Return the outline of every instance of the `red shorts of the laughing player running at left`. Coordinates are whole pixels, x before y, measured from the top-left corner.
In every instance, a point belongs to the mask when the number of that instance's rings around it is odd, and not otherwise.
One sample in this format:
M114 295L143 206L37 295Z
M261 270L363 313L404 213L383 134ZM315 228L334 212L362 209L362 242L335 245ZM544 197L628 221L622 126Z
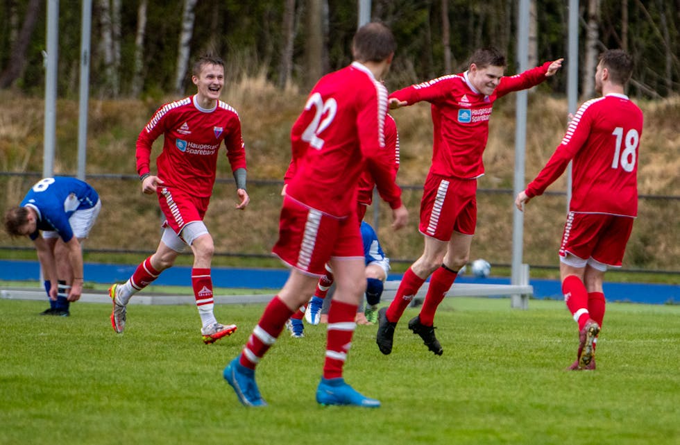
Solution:
M201 198L179 189L158 187L158 203L165 215L163 226L170 226L179 234L192 221L203 221L210 196Z

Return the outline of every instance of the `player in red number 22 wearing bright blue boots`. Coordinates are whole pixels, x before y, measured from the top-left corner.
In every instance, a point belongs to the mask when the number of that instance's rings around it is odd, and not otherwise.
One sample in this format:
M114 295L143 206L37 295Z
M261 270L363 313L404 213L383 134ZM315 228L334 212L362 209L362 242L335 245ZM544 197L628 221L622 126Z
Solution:
M255 383L255 367L282 333L286 321L314 292L330 262L337 292L328 314L323 376L316 389L321 405L380 406L343 380L343 365L356 328L364 294L364 257L356 193L359 175L368 168L378 191L393 209L393 227L407 222L401 191L384 151L387 92L380 83L389 71L396 42L386 26L369 23L352 40L354 62L321 78L291 130L297 169L285 190L279 239L273 253L291 274L267 305L248 343L223 371L239 401L266 405Z

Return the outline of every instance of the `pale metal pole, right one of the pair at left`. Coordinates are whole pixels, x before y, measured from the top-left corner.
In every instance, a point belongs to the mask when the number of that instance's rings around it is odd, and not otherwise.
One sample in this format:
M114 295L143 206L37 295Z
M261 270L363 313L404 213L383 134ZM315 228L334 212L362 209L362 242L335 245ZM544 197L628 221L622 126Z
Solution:
M80 25L80 93L78 104L78 179L85 180L87 158L87 102L90 99L90 30L92 0L83 0Z

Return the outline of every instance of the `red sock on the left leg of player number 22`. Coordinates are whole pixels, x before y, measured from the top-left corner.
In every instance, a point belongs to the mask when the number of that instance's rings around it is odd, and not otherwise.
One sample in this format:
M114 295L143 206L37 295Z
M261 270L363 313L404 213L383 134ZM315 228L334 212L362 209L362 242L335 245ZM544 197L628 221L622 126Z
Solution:
M241 353L239 363L244 367L255 369L257 363L264 356L266 351L274 344L287 319L291 317L293 311L275 296L262 313L262 318L253 329L253 333L248 337L248 343Z

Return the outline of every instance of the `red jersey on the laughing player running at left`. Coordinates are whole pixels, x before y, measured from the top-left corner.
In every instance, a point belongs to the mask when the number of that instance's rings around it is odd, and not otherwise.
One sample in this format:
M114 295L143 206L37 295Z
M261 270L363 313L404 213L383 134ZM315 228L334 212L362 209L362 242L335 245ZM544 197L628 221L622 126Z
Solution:
M246 151L236 110L223 101L206 110L195 98L167 103L151 117L137 138L137 173L149 172L151 145L164 135L163 151L156 158L157 176L167 187L206 197L212 194L221 142L232 171L246 168Z

